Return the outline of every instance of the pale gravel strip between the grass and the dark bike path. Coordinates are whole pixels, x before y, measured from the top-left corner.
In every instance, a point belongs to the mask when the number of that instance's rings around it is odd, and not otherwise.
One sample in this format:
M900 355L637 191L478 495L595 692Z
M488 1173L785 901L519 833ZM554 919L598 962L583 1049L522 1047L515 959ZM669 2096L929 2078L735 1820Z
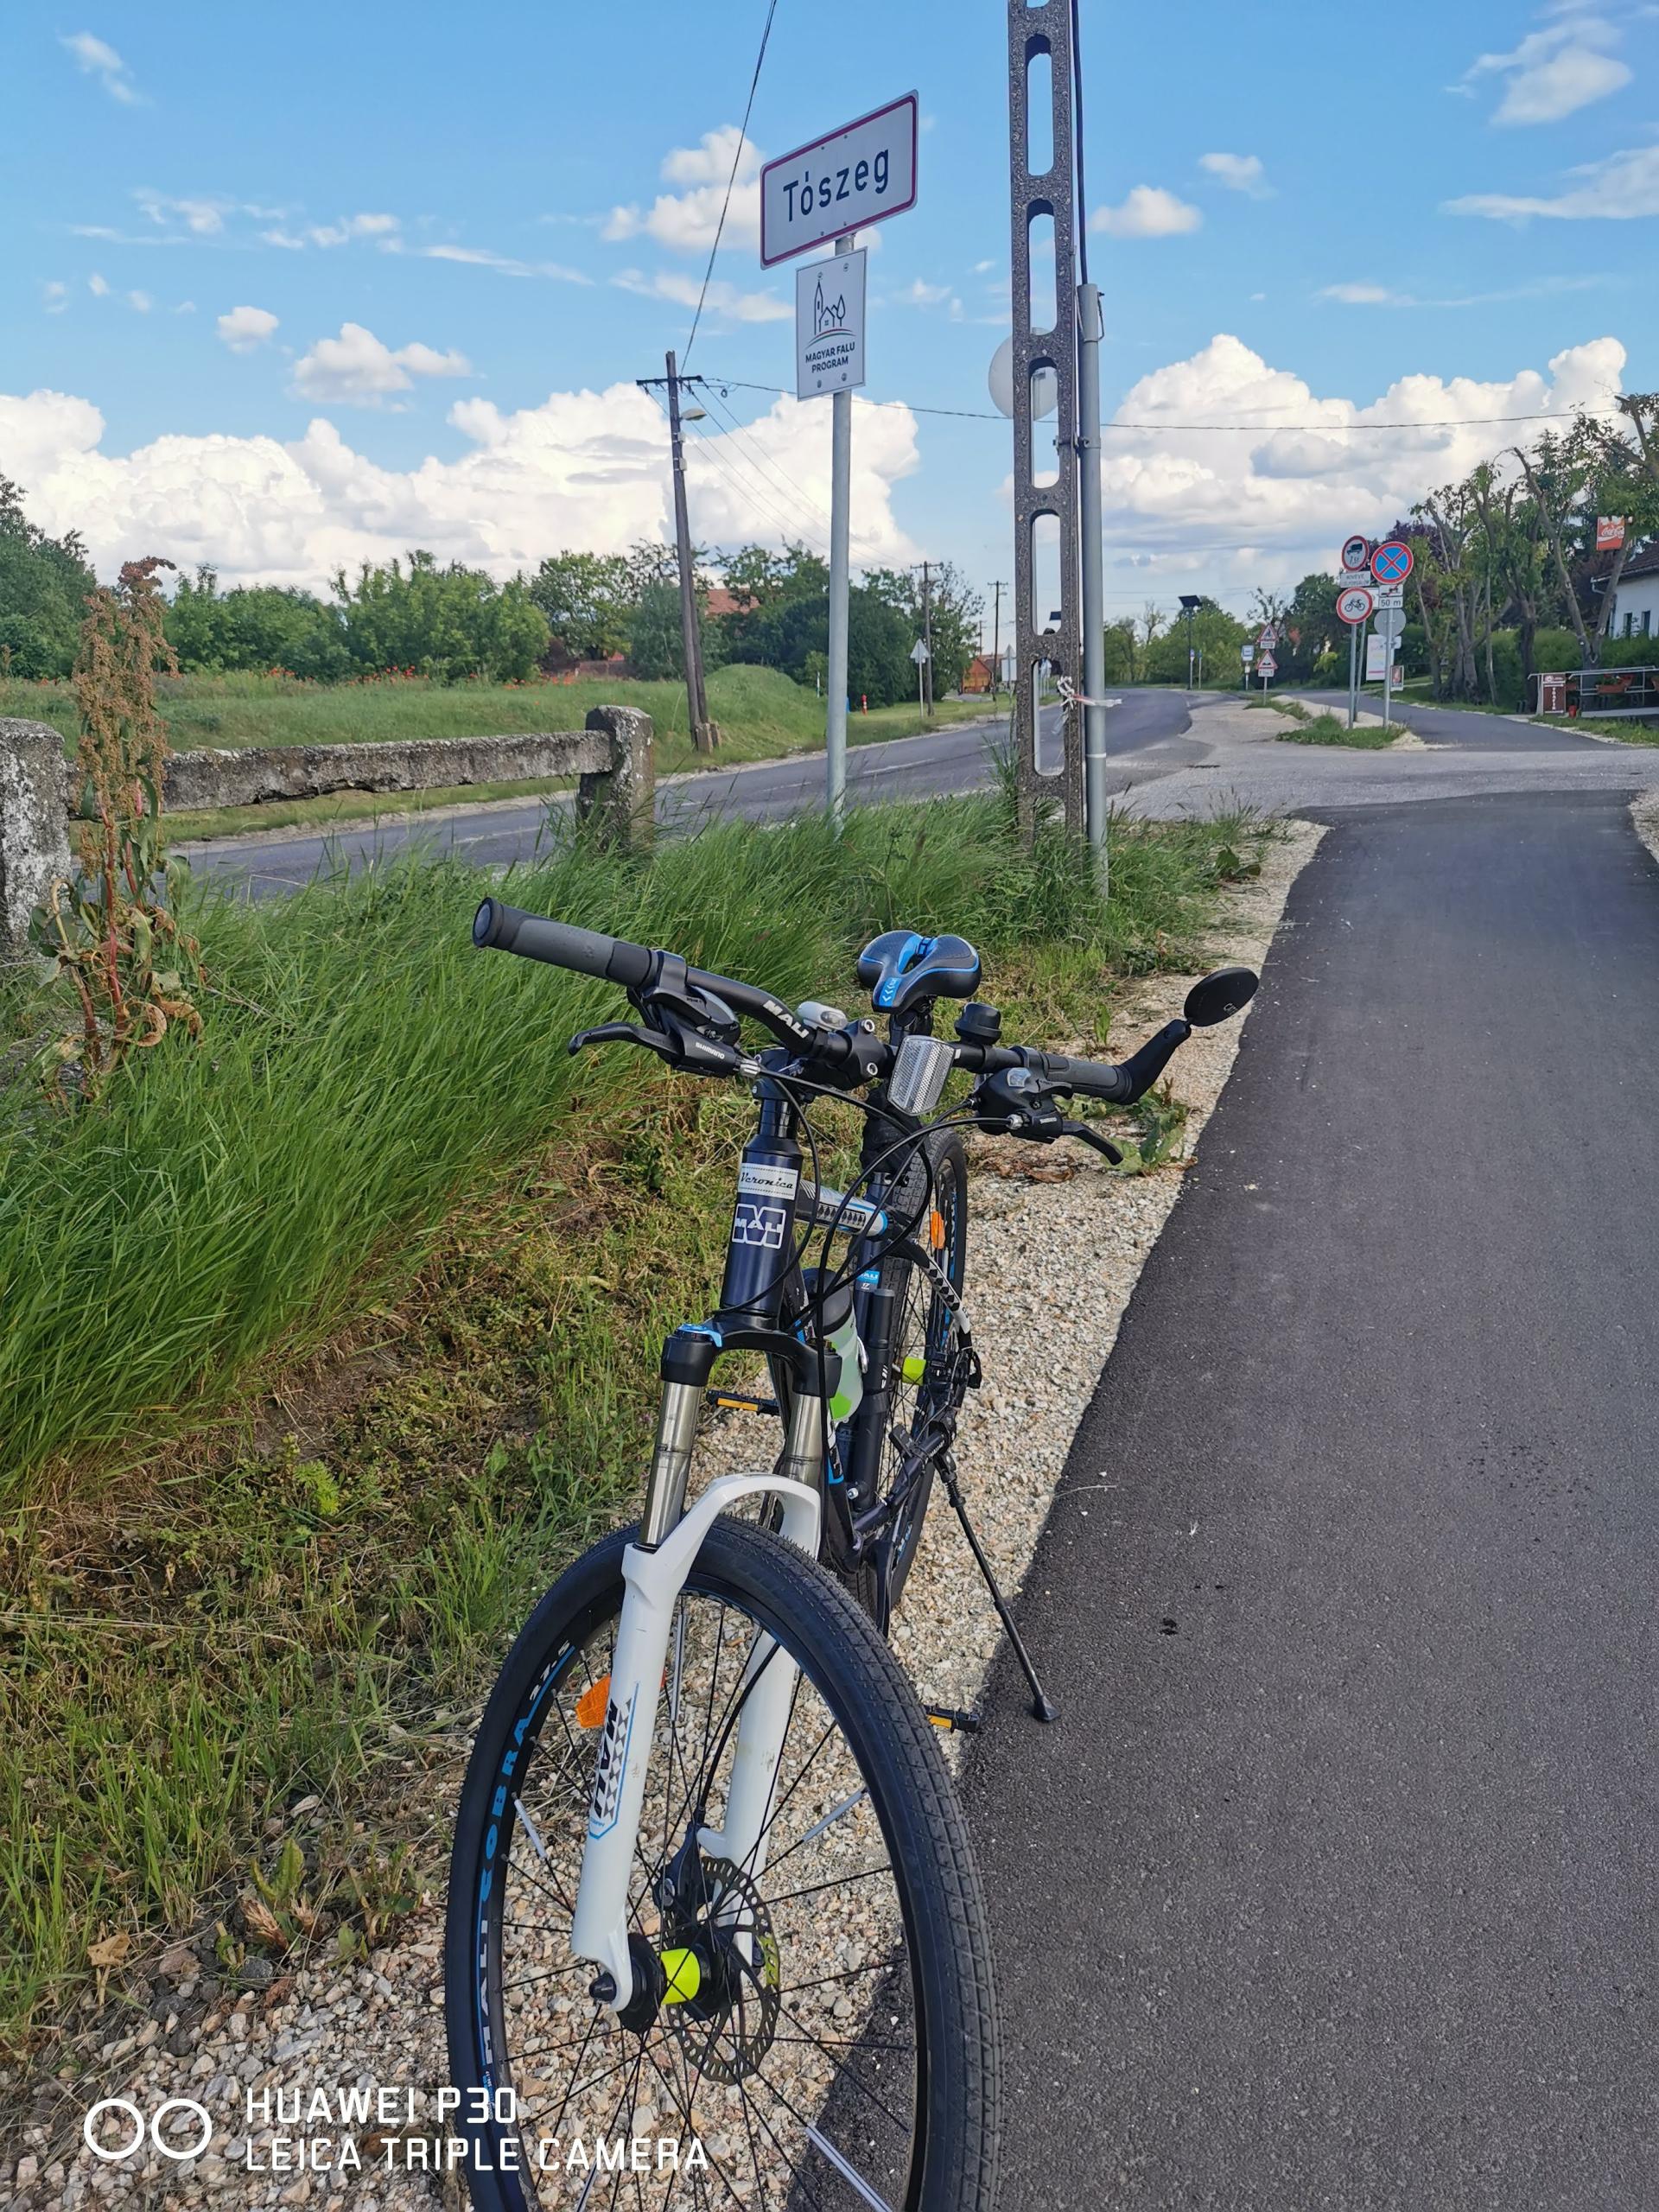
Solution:
M1234 710L1241 712L1241 710ZM1250 734L1261 714L1243 714ZM1296 874L1325 832L1287 823L1263 854L1254 883L1225 894L1212 931L1212 964L1261 967L1281 925ZM1659 807L1652 827L1659 838ZM1124 1011L1115 1042L1139 1040L1179 1013L1192 978L1150 978ZM1248 1020L1248 1015L1245 1015ZM1186 1150L1197 1144L1228 1082L1243 1022L1199 1031L1172 1064L1188 1106ZM1075 1042L1077 1051L1099 1051ZM1073 1157L1075 1155L1075 1157ZM1066 1146L1035 1152L1011 1141L975 1139L969 1217L969 1314L984 1358L984 1389L969 1400L960 1464L980 1537L1009 1593L1031 1566L1048 1502L1077 1422L1117 1340L1124 1310L1164 1223L1181 1194L1179 1166L1115 1177L1093 1152ZM1079 1296L1086 1287L1086 1296ZM732 1422L708 1433L703 1471L752 1458ZM922 1697L975 1705L998 1644L995 1613L945 1500L929 1513L896 1648ZM1042 1668L1042 1652L1035 1655ZM960 1739L947 1739L960 1750ZM467 1756L467 1730L425 1741L422 1798L429 1834L447 1827ZM215 2119L204 2157L173 2163L155 2150L100 2163L82 2146L80 2097L62 2093L53 2112L38 2101L22 2121L22 2157L0 2154L0 2199L15 2212L71 2212L86 2203L133 2203L144 2212L210 2205L263 2212L316 2205L321 2212L458 2212L456 2177L407 2170L400 2143L434 2137L436 2090L447 2077L442 2033L442 1874L400 1922L396 1938L365 1962L332 1960L252 1973L263 1986L219 1980L208 1953L175 1947L155 1973L146 2013L104 2044L102 2093L128 2097L142 2112L168 2097L192 2097ZM246 1975L243 1975L246 1980ZM327 2090L398 2093L407 2117L356 2130L361 2170L270 2170L272 2130L248 2124L248 2099L276 2090L310 2097ZM15 2084L11 2086L15 2097ZM117 2130L131 2121L115 2117ZM314 2132L334 2135L325 2121ZM387 2143L394 2163L387 2166ZM257 2170L250 2170L250 2163Z

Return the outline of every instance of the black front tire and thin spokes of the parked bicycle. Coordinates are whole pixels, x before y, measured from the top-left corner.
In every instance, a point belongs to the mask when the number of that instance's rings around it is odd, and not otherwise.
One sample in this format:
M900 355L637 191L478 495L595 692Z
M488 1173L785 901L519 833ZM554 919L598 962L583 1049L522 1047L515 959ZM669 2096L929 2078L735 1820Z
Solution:
M456 2132L471 2146L467 2183L476 2212L531 2212L531 2208L553 2201L553 2197L542 2199L535 2192L533 2172L502 2170L500 2143L509 2135L520 2139L522 2154L524 2137L520 2121L502 2124L493 2117L480 2117L469 2108L469 2099L513 2081L513 2055L507 2048L504 2033L500 1938L509 1913L513 1829L520 1829L520 1834L526 1832L535 1840L535 1849L542 1851L542 1874L549 1882L562 1871L562 1865L546 1856L546 1836L538 1834L520 1796L531 1787L529 1776L535 1770L538 1756L544 1756L542 1730L549 1725L546 1712L549 1705L557 1710L551 1690L564 1674L575 1686L575 1668L566 1655L584 1652L588 1639L602 1635L606 1621L615 1621L624 1590L622 1553L633 1535L635 1531L626 1528L597 1544L557 1579L535 1608L491 1692L462 1787L449 1880L445 1984L451 2079L456 2090L462 2093L462 2112L458 2115ZM889 1867L860 1867L856 1871L858 1876L891 1874L900 1896L902 1947L894 1955L909 1960L914 1980L911 2002L920 2020L918 2064L914 2073L916 2137L907 2154L902 2192L876 2192L874 2201L887 2203L891 2212L991 2212L998 2152L998 2024L984 1898L967 1827L933 1730L874 1624L832 1575L781 1537L730 1517L714 1522L692 1568L688 1597L681 1599L688 1608L692 1601L699 1606L721 1604L721 1632L728 1617L726 1608L730 1606L737 1619L752 1624L790 1652L801 1668L801 1679L812 1686L812 1694L821 1699L823 1708L841 1725L863 1790L869 1794L869 1818L865 1820L865 1809L856 1809L847 1816L843 1836L854 1823L869 1827L874 1820L874 1834L889 1856ZM719 1641L710 1710L717 1686ZM664 1679L666 1699L668 1677ZM679 1723L670 1721L670 1728L675 1725ZM564 1739L573 1745L568 1725ZM557 1745L557 1736L549 1741L557 1747L557 1761L564 1763L564 1745ZM814 1752L812 1756L816 1759L818 1754ZM546 1759L551 1761L551 1754ZM511 1787L502 1787L504 1774L513 1776ZM668 1774L672 1792L672 1756L668 1759ZM560 1776L551 1778L560 1781ZM580 1781L582 1785L582 1803L586 1801L588 1778L588 1774L571 1774L571 1783ZM796 1776L796 1787L799 1783L801 1776ZM816 1803L803 1807L803 1814L805 1809L816 1809ZM770 1818L781 1820L781 1814L783 1801L776 1803ZM832 1814L832 1820L841 1820L843 1814L845 1807ZM825 1825L814 1827L807 1843ZM664 1851L670 1834L675 1834L675 1823L664 1816ZM852 1849L852 1845L847 1847ZM799 1849L799 1845L792 1849ZM863 1856L863 1851L854 1849L854 1856ZM783 1858L774 1854L761 1878L781 1865ZM807 1860L807 1869L812 1865ZM792 1878L801 1878L799 1867ZM830 1887L847 1889L849 1880L841 1878ZM865 1898L869 1885L856 1893ZM825 1918L816 1896L812 1913L814 1920ZM874 1924L874 1920L852 1924ZM659 1922L659 1931L661 1927L664 1922ZM564 1933L568 1949L568 1920ZM874 1944L876 1938L872 1938ZM785 2013L790 2011L790 1997L799 2006L805 2006L805 1993L818 1984L790 1978L787 1938L776 1938L774 1955L779 1964L768 1971L776 1973ZM845 1958L849 1953L843 1947L838 1955ZM529 1951L529 1958L538 1958L538 1953ZM577 1969L549 1969L542 1978L549 1980L557 1971L575 1973ZM586 1969L580 1971L586 1973ZM885 1964L858 1964L852 1969L852 1975L876 1973L887 1978L889 1969ZM838 1975L836 1980L847 1982L852 1975ZM580 1984L566 1982L566 1989L571 1986ZM878 2004L883 2015L889 2004L887 1989L889 1982L883 1980L869 1995L872 2008ZM524 2002L529 2000L520 2000L520 2004ZM821 2004L825 2000L816 1997L812 2002ZM573 2002L566 2011L571 2013L571 2037L575 2037L577 2004ZM606 2020L608 2026L624 2033L615 2015L606 2015ZM655 2024L648 2033L655 2033ZM679 2033L677 2022L675 2033ZM849 2026L843 2033L852 2035L854 2031ZM863 2042L867 2033L867 2026L863 2026L858 2028L860 2042L845 2044L845 2048L856 2051L860 2066L867 2064ZM783 2037L783 2042L801 2042L801 2037ZM533 2051L533 2046L526 2048ZM586 2048L584 2042L573 2068L575 2073L582 2073ZM878 2044L876 2048L902 2051L905 2046ZM883 2064L885 2059L876 2059L878 2075ZM635 2081L641 2079L641 2066L644 2059L635 2070ZM542 2070L546 2068L538 2066L538 2073ZM896 2070L889 2068L889 2077L883 2077L889 2095L894 2095L894 2073L902 2081L905 2064L900 2062ZM834 2062L830 2095L818 2108L823 2126L834 2126L834 2119L825 2115L834 2099L843 2095L843 2077L854 2077L856 2084L854 2090L845 2090L847 2099L865 2088L865 2084L858 2084L852 2059L843 2053ZM686 2108L697 2108L697 2097L706 2093L701 2088L703 2079L699 2066L697 2084L686 2081ZM783 2079L792 2077L785 2075ZM730 2104L730 2090L726 2095ZM557 2112L560 2121L566 2106L568 2093ZM759 2101L754 2101L754 2110L761 2110ZM779 2108L772 2106L770 2110L776 2119ZM750 2124L750 2143L754 2141ZM810 2152L805 2157L810 2159ZM757 2157L754 2163L759 2172L761 2159ZM849 2181L843 2181L823 2152L818 2154L810 2185L799 2170L792 2168L792 2174L794 2181L781 2190L779 2203L814 2203L823 2205L825 2212L841 2212L845 2203L856 2212L858 2205L872 2201L863 2194L869 2183L854 2188ZM639 2188L637 2177L630 2174L628 2181L635 2190ZM666 2197L659 2190L661 2177L648 2177L644 2203L650 2212L659 2212L659 2208L668 2212L670 2205L726 2201L712 2174L703 2177L701 2194L697 2197L677 2194L677 2183L668 2185ZM595 2192L595 2212L604 2201ZM635 2197L628 2194L626 2201L635 2203ZM765 2188L761 2188L759 2201L772 2203Z

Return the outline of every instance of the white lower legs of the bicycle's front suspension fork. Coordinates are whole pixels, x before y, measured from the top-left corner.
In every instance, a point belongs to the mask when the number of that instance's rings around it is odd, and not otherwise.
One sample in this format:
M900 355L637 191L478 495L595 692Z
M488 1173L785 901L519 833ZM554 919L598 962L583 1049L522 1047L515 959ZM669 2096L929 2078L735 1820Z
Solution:
M657 1697L668 1663L675 1604L712 1522L739 1500L765 1493L783 1500L783 1535L816 1559L823 1524L821 1495L805 1482L787 1482L779 1475L721 1475L657 1546L646 1551L630 1544L622 1555L626 1590L611 1661L611 1703L599 1739L588 1805L588 1840L582 1851L582 1880L571 1922L575 1955L593 1960L611 1975L615 1986L606 2000L611 2011L622 2011L633 1995L628 1880L639 1840L639 1809L646 1801L650 1739L657 1725ZM745 1668L745 1686L752 1683L752 1688L748 1688L737 1725L726 1827L719 1834L703 1829L699 1845L721 1858L737 1860L750 1874L759 1874L799 1670L768 1635L757 1635Z

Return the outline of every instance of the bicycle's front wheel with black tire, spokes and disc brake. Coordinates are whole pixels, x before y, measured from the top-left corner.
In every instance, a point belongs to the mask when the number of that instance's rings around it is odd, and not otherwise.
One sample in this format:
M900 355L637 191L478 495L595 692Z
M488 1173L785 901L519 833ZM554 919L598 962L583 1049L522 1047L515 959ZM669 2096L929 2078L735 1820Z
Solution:
M591 1997L571 1911L630 1537L535 1608L467 1770L447 2006L473 2205L991 2212L984 1902L938 1743L834 1579L732 1520L675 1606L628 2024ZM737 1867L699 1836L721 1827L737 1721L774 1646L799 1681L765 1834Z

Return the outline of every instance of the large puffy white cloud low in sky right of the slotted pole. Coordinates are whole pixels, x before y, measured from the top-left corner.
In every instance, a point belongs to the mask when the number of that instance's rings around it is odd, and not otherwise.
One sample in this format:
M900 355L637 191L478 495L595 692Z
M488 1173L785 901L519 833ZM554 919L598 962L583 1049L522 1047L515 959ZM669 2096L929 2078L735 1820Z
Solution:
M1321 398L1243 341L1217 336L1144 376L1115 420L1237 427L1108 429L1106 544L1135 549L1170 577L1203 560L1221 586L1334 568L1347 531L1387 529L1433 484L1544 427L1489 418L1606 411L1624 363L1617 338L1595 338L1557 354L1548 374L1400 376L1354 403Z

